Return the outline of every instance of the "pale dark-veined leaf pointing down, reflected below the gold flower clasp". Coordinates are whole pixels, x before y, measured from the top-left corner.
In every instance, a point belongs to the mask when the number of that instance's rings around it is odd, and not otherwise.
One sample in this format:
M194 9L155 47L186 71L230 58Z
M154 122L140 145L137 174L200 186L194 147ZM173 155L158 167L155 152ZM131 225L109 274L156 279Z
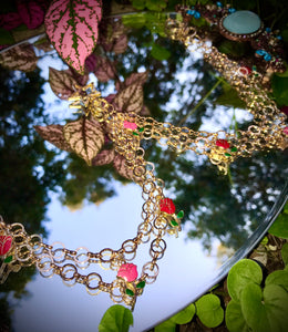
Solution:
M64 126L64 137L73 151L83 158L88 165L101 151L104 144L104 133L95 121L81 117Z

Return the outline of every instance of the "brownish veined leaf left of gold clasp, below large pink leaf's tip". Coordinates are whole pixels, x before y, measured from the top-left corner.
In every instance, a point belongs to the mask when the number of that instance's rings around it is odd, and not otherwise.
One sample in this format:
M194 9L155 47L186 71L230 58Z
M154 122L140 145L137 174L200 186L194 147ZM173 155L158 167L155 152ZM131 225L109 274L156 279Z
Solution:
M70 70L58 71L49 68L49 83L54 94L61 100L68 100L74 92L78 81Z

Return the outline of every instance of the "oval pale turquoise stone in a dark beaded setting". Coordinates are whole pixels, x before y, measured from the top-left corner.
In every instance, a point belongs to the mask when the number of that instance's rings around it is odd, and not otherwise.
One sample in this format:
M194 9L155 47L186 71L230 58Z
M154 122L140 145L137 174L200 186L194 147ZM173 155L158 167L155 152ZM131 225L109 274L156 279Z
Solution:
M232 33L253 33L260 29L261 20L249 10L239 10L227 15L223 21L223 27Z

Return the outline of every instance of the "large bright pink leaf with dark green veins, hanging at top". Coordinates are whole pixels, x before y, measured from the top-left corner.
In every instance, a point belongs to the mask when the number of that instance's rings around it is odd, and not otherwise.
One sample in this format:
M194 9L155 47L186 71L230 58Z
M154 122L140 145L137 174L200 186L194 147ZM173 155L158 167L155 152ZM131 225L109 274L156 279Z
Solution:
M85 59L97 41L101 0L53 0L45 14L45 30L60 56L84 74Z

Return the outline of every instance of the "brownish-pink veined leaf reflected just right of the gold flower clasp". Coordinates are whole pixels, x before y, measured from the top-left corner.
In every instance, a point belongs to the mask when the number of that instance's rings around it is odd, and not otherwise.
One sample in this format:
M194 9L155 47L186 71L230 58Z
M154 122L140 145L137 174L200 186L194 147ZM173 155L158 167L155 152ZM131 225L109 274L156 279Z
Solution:
M140 113L143 107L143 87L140 84L125 87L116 94L113 104L117 111Z

